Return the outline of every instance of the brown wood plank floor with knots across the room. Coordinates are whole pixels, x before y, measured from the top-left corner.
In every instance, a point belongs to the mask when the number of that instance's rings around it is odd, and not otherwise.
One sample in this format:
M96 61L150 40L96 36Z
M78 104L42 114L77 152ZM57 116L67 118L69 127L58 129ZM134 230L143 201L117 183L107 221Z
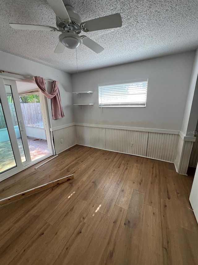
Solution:
M0 264L198 265L193 176L148 158L76 145L0 182L0 199L74 179L0 207Z

